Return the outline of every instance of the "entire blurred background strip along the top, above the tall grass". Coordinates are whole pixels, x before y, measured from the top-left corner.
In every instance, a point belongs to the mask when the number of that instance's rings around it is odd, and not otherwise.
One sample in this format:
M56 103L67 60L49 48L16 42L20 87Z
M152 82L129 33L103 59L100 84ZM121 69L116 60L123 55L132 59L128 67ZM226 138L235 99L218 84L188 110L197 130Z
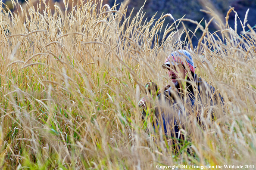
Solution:
M40 0L32 0L35 8L39 4L39 1ZM88 2L89 0L85 0L84 2L86 1ZM127 0L125 0L125 2L124 0L103 0L103 4L109 4L109 6L112 7L114 6L115 1L116 1L116 4L119 4L116 6L117 10L119 9L121 3L127 2ZM68 0L66 0L66 3L67 2ZM3 3L6 3L6 5L9 7L9 9L12 12L19 10L19 6L13 7L12 1L10 0L3 0ZM24 6L25 0L19 0L19 3ZM65 11L65 5L63 3L63 0L46 0L46 4L48 3L52 7L52 9L54 9L53 5L56 3L58 6L61 7L63 11ZM72 0L69 0L68 3L69 3L69 7L67 10L70 11L72 9ZM43 2L41 2L41 4L42 5L41 5L40 11L43 12L44 4ZM76 3L74 3L74 6L75 4ZM143 11L144 13L146 12L144 16L144 20L147 18L147 21L149 21L152 18L152 16L156 14L156 12L157 14L155 16L155 19L159 19L162 14L165 15L167 13L170 13L172 14L175 20L182 18L184 15L185 15L184 18L192 19L197 22L200 22L203 19L203 22L201 22L201 25L205 26L205 21L209 22L212 16L207 15L205 12L200 11L200 9L208 10L206 9L206 6L208 6L215 13L219 15L220 19L223 21L224 24L225 24L225 16L227 15L227 12L231 7L234 7L234 10L237 12L238 17L242 22L244 22L247 9L250 9L248 12L247 24L249 24L251 27L256 25L256 21L255 21L256 0L147 0L146 2L144 0L129 0L126 16L129 16L132 10L133 12L131 16L134 16L143 5L144 5ZM52 10L52 12L54 12L54 10ZM229 15L228 24L232 29L234 29L234 25L235 25L234 20L235 20L235 13L231 12ZM173 20L170 17L165 18L162 31L159 35L160 40L162 40L163 32L168 23L169 25L173 23ZM187 29L193 32L197 27L197 25L192 24L190 22L184 22L184 24L187 27ZM182 25L179 26L179 29L181 27ZM219 30L218 26L215 24L215 20L213 20L212 24L209 26L209 31L213 33L214 31L217 31L217 30ZM247 30L249 30L249 28L246 26L245 31ZM243 34L243 28L238 18L237 18L237 34ZM201 37L201 35L202 35L202 31L198 29L196 36L194 36L192 39L192 43L194 46L197 45L197 42L198 42L197 37Z

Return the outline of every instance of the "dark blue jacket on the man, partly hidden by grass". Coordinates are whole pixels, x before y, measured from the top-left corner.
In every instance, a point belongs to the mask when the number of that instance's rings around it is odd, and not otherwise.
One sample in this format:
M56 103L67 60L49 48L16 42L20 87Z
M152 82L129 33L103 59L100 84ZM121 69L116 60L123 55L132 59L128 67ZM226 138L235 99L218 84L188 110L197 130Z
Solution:
M214 121L215 113L222 109L222 105L222 96L195 74L194 80L186 83L186 90L170 88L158 95L154 107L156 125L164 130L166 136L178 138L180 127L190 134L194 122L204 127L209 121Z

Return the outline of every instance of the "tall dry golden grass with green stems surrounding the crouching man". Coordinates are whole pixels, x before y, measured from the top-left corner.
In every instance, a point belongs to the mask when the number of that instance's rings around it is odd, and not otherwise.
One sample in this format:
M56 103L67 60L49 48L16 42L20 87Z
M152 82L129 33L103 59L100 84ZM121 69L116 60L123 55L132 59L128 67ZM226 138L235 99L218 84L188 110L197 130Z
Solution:
M1 169L255 163L254 31L238 37L208 11L222 37L214 38L207 23L203 28L194 22L203 36L193 48L189 37L179 40L186 34L181 19L162 28L171 15L142 22L142 10L130 18L125 4L116 10L79 2L69 13L58 6L51 13L47 4L39 13L31 4L16 14L3 9L0 14ZM162 42L160 29L165 29ZM222 94L225 105L211 128L195 127L200 135L176 143L177 153L165 135L143 124L137 104L149 79L159 87L169 82L162 62L181 48L190 51L197 74Z

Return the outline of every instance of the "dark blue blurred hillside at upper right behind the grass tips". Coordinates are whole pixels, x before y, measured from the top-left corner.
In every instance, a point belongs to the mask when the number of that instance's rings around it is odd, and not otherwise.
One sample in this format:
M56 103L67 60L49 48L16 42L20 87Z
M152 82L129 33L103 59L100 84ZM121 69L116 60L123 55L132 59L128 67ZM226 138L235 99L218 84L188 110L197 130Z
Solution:
M114 2L115 0L109 0L108 3L110 6L113 6ZM116 0L116 3L121 4L121 2L123 2L123 0ZM211 7L214 11L218 12L222 20L225 22L225 16L227 15L228 10L230 9L230 7L234 7L234 10L237 12L242 22L244 22L244 17L247 9L250 9L247 17L247 23L251 27L256 25L256 0L209 0L209 2L210 4L207 3L207 1L205 0L147 0L144 5L143 11L146 12L145 18L148 19L150 19L157 12L156 19L159 19L162 13L170 13L175 20L180 19L185 15L184 18L187 19L192 19L200 22L201 19L204 18L204 20L208 22L212 18L212 16L209 16L205 12L200 11L200 9L206 9L205 6L208 5L208 7ZM130 0L128 4L128 14L133 8L133 14L136 14L140 10L140 7L143 6L143 4L144 0ZM229 15L228 24L232 29L234 29L234 19L235 13L231 12L231 14ZM166 17L162 32L164 31L167 23L170 23L169 25L171 25L173 23L173 20L169 17ZM194 31L196 28L196 25L190 22L184 22L184 24L191 31ZM201 24L205 26L204 21L201 22ZM181 28L181 26L179 28ZM214 32L216 30L219 29L213 21L209 27L209 31ZM245 28L245 31L247 30L249 30L248 27ZM242 31L243 28L237 18L237 34L243 34ZM202 32L198 30L196 35L200 37L202 35ZM197 45L198 40L196 37L194 37L192 41L194 45Z

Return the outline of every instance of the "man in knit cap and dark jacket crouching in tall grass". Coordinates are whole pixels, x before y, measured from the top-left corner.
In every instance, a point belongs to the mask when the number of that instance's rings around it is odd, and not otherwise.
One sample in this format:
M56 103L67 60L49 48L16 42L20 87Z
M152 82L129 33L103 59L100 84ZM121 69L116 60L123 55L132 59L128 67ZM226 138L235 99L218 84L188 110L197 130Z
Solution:
M156 125L166 136L179 138L180 130L191 134L193 127L207 127L215 120L215 111L222 102L222 97L215 88L204 82L195 74L194 61L186 50L175 51L167 57L162 65L167 69L172 85L168 84L157 92L157 87L148 84L148 95L142 99L144 114L149 114L149 108L156 115ZM150 89L150 88L151 89ZM155 91L154 91L155 90ZM157 96L152 104L149 95ZM206 113L206 114L204 114ZM196 120L196 121L194 121Z

